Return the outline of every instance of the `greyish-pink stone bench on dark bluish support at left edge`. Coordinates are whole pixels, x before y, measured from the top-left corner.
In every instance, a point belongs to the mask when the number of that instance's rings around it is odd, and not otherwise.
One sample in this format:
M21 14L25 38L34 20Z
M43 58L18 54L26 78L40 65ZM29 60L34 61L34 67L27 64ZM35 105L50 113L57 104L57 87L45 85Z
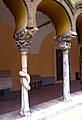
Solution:
M10 71L0 71L0 90L4 97L9 96L9 89L12 87L12 74Z

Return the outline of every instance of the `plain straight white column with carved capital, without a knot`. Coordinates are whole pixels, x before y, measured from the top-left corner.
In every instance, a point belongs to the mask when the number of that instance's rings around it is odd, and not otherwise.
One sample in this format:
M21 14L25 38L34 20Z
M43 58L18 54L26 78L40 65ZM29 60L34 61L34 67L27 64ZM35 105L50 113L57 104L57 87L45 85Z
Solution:
M63 99L69 101L70 97L70 77L69 77L69 57L68 53L71 48L70 37L59 36L60 49L63 51Z

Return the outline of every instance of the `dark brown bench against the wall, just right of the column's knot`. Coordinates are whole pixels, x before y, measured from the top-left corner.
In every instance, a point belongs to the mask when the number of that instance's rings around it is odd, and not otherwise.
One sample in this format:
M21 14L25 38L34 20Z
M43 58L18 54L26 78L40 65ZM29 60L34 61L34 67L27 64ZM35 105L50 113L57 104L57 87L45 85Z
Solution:
M42 77L40 75L30 75L31 81L30 85L31 88L41 88L42 87Z

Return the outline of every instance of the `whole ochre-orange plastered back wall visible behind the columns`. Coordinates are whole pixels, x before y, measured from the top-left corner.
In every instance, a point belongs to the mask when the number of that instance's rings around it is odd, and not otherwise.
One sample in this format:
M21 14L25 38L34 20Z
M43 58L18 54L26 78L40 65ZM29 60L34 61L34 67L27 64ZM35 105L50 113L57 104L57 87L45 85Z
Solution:
M52 32L44 38L38 54L29 54L29 74L39 74L43 77L54 75L53 46L56 46L57 43L53 40L53 37L54 33ZM71 43L70 69L71 78L74 80L75 72L79 71L79 58L77 41L72 40ZM20 69L21 56L18 48L15 46L13 27L7 24L0 24L0 70L11 71L13 75L13 88L11 90L20 89L18 75Z

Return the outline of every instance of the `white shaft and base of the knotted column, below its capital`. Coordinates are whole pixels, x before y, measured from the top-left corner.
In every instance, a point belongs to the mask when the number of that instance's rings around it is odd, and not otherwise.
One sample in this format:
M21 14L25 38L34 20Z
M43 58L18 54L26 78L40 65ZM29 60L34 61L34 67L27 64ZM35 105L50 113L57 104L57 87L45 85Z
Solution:
M21 53L21 62L22 62L22 72L24 74L27 74L27 57L28 57L28 53L27 52L22 52ZM29 98L28 98L28 91L30 89L26 89L26 87L29 85L29 83L26 84L26 78L25 76L23 77L21 75L21 72L19 72L20 75L20 82L21 82L21 111L20 111L20 115L21 116L26 116L27 114L30 114L30 109L29 109ZM28 81L27 81L28 82ZM30 88L30 86L29 86Z

